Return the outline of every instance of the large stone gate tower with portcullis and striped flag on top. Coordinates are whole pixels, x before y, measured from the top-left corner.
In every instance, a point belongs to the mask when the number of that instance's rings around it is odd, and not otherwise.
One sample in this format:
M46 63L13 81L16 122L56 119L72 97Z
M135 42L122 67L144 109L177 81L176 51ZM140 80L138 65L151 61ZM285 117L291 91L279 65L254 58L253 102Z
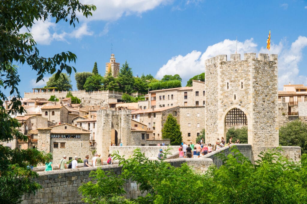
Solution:
M206 142L226 138L231 125L248 129L253 158L267 148L278 147L278 59L277 55L245 53L218 55L206 60Z

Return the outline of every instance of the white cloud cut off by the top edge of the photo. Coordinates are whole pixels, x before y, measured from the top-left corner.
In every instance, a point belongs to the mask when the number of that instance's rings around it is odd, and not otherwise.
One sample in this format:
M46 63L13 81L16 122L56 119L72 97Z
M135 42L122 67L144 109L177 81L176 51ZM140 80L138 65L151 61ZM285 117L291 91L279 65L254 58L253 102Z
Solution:
M168 4L173 0L84 0L84 4L94 4L97 8L91 20L116 21L123 15L141 15L160 5Z

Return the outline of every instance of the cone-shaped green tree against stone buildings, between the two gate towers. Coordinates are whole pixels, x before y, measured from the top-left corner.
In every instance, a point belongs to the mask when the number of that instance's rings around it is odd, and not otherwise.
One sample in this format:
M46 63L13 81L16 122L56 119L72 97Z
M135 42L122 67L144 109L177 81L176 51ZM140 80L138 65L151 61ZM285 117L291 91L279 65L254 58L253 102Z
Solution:
M176 118L169 114L162 128L162 138L170 139L171 145L180 145L182 142L182 133L180 125L177 123Z

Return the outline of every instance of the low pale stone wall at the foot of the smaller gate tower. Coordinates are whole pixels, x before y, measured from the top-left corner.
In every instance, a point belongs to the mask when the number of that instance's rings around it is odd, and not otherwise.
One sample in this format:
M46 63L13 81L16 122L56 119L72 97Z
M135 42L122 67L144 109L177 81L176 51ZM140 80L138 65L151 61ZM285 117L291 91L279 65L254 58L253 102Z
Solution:
M174 154L178 154L178 148L180 146L172 146L172 150L171 153ZM158 157L158 153L160 149L167 149L168 146L139 146L139 147L134 147L134 146L110 146L110 153L112 153L113 151L118 151L119 155L125 155L125 158L129 158L130 156L133 155L133 151L136 148L140 148L141 152L145 154L146 157L150 158L150 159L157 159ZM172 155L169 155L168 158L170 158Z

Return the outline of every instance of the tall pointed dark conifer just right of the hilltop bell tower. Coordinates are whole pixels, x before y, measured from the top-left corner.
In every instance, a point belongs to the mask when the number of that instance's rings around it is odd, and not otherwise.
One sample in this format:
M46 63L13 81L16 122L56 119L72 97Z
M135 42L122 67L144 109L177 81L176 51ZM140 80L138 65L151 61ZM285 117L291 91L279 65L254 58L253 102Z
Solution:
M127 61L122 65L122 68L119 71L118 82L120 89L124 90L124 92L133 92L134 76Z

